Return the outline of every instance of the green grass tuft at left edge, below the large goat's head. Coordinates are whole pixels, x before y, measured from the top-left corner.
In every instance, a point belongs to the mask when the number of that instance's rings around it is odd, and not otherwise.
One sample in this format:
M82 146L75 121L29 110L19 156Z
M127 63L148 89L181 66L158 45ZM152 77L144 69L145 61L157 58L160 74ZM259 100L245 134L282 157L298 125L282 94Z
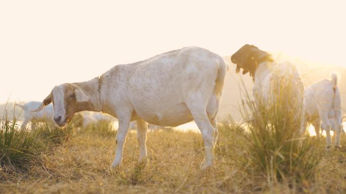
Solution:
M28 170L28 164L40 160L41 153L51 145L66 140L76 122L61 128L50 120L40 120L31 130L30 127L21 129L16 124L17 118L10 118L5 110L0 117L0 167L10 171Z

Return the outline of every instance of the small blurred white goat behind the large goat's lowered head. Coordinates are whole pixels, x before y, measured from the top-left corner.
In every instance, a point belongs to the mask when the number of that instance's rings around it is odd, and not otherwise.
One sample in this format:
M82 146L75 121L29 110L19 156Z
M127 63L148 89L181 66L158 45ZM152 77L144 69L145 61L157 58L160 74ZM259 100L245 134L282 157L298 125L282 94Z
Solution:
M54 108L53 105L48 105L45 108L37 112L32 112L32 110L37 109L40 106L41 102L29 101L25 105L16 104L23 109L24 121L22 122L21 128L23 129L28 122L31 121L31 128L35 127L35 122L48 119L53 121Z

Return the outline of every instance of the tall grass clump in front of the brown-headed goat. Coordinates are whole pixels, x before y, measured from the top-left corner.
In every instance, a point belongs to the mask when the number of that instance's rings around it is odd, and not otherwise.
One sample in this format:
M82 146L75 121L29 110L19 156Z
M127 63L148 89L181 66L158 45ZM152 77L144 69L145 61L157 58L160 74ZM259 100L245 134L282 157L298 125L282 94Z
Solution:
M267 179L301 183L312 178L320 162L318 141L300 133L302 99L297 86L278 78L266 100L246 93L243 115L248 119L248 162ZM274 94L274 95L273 95Z

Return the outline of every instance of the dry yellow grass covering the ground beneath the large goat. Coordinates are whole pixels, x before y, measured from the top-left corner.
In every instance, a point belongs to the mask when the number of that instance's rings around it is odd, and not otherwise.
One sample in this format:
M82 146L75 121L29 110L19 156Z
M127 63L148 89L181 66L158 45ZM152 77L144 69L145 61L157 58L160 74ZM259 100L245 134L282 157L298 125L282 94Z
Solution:
M221 126L214 168L200 170L201 135L193 132L148 133L146 167L137 164L136 132L126 138L122 167L111 170L115 134L78 132L42 153L41 162L24 173L0 170L0 193L345 193L346 142L324 149L314 177L299 184L268 185L266 175L247 164L249 148L240 127Z

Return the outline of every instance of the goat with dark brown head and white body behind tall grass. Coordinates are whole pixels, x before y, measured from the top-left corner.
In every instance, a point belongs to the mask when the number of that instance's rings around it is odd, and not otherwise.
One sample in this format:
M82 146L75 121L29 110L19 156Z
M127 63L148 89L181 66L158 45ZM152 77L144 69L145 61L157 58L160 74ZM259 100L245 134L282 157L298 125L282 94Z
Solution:
M235 52L231 60L237 64L236 72L243 69L243 74L247 72L254 80L252 95L256 107L260 102L265 106L275 103L277 88L290 87L292 91L287 92L288 98L295 107L297 118L303 116L301 105L304 95L304 85L301 81L298 69L290 62L276 63L271 55L258 49L256 46L245 44ZM293 109L292 109L293 110ZM303 123L304 121L301 121ZM302 124L301 124L302 126Z

